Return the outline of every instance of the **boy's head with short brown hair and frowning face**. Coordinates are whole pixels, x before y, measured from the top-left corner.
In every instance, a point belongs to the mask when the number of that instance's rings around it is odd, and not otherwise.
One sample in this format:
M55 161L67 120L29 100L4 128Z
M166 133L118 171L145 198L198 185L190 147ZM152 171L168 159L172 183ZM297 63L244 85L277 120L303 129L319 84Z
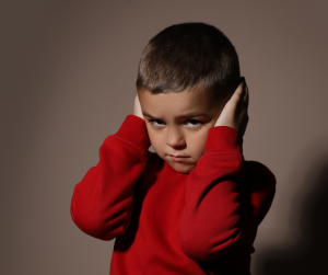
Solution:
M239 81L237 53L216 27L184 23L155 35L143 49L137 90L157 154L176 171L189 173ZM196 112L204 116L179 117ZM169 154L188 158L178 161Z

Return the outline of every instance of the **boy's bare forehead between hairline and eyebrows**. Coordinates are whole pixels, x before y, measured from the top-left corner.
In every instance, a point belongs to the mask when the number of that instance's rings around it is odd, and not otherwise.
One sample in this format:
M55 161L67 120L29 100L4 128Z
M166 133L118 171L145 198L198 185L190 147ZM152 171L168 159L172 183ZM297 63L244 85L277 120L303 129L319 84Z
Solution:
M151 94L139 92L140 104L144 115L155 118L181 117L191 113L212 115L209 108L208 93L203 90Z

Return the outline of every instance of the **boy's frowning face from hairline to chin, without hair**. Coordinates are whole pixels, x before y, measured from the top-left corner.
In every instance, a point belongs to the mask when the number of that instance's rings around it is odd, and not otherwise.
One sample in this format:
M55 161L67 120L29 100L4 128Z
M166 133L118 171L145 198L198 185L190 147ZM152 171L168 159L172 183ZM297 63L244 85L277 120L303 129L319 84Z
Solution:
M207 93L197 89L166 94L142 91L138 94L154 150L177 172L189 173L204 153L208 131L223 106L211 106ZM190 115L195 113L199 114ZM186 158L176 160L171 154Z

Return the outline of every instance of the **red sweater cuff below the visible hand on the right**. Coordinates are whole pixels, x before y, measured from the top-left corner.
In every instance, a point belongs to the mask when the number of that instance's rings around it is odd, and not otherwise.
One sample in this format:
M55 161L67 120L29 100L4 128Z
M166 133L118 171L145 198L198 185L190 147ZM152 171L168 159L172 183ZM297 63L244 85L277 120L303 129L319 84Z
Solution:
M204 153L239 151L243 153L243 136L235 128L216 126L209 129Z

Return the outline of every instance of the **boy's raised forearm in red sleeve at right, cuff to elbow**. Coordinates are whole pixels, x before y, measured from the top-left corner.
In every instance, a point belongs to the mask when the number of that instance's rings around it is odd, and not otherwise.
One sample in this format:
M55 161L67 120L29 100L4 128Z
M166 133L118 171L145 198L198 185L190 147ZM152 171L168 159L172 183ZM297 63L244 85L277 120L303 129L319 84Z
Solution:
M186 205L179 220L184 253L195 261L219 256L241 238L241 196L244 175L242 137L226 126L210 128L204 154L190 172Z

